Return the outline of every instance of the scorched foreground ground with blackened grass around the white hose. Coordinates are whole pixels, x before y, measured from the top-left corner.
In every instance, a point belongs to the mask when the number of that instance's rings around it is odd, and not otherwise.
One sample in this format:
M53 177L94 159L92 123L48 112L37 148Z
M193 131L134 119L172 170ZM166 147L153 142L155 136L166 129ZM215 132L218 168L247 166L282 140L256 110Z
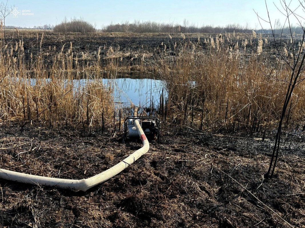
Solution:
M0 129L0 168L56 178L91 177L141 147L122 143L122 132L8 123ZM242 130L163 128L160 144L151 143L132 166L87 192L0 180L0 224L304 227L305 134L283 133L274 178L264 179L273 140L272 131L263 141L261 134Z

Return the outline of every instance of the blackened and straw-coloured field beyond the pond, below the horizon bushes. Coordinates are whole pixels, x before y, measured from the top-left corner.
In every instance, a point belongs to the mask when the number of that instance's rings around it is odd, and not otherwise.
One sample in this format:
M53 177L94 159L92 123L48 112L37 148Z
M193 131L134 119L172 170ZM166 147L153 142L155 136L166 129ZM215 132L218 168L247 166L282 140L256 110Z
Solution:
M197 47L206 49L206 44L203 42L204 38L209 36L218 37L219 33L187 33L185 34L185 40L181 38L181 33L171 34L171 39L167 33L55 33L52 31L40 30L21 30L20 34L14 29L7 31L7 44L11 44L15 47L15 43L19 43L20 39L23 40L24 48L24 60L30 63L31 53L33 59L43 54L45 64L48 67L52 66L54 57L59 54L63 47L63 52L67 53L70 49L70 43L72 43L72 52L74 58L78 58L81 64L91 65L97 59L97 53L99 47L100 58L103 66L109 64L109 60L122 59L118 61L120 67L130 67L130 71L138 71L138 65L143 64L142 59L146 62L150 62L152 57L160 54L161 52L167 56L176 55L173 51L175 44L189 44L195 43ZM252 34L252 33L251 33ZM239 36L239 43L242 39L251 37L249 33L236 33L236 37ZM270 35L270 34L269 34ZM279 39L279 35L276 39ZM198 43L198 37L201 41ZM263 35L263 37L267 37ZM289 36L284 34L283 40L287 40ZM297 36L298 37L298 36ZM41 40L41 38L43 38ZM236 38L233 37L233 41L236 42ZM254 41L253 41L254 42ZM284 42L284 41L283 41ZM164 46L165 44L165 46ZM41 45L41 49L40 49ZM241 44L240 44L241 45ZM113 52L109 52L111 47ZM179 49L179 48L178 48ZM252 48L249 48L251 51ZM19 50L14 52L14 55L18 56ZM84 53L84 57L83 57ZM275 53L273 53L275 54Z

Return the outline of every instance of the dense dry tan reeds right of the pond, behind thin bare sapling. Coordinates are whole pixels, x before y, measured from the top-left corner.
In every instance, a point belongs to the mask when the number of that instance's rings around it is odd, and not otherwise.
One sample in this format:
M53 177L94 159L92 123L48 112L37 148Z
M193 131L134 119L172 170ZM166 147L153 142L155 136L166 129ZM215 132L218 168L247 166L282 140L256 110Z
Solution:
M173 116L176 123L197 123L198 126L203 119L210 127L235 121L245 124L277 121L285 96L283 80L289 69L276 56L263 54L263 40L256 41L257 52L246 51L246 40L241 49L238 42L232 49L231 43L217 42L214 47L213 41L210 38L207 50L194 50L189 45L177 50L176 56L161 55L154 60L153 66L168 91L167 116ZM287 49L284 50L287 55ZM263 72L271 74L267 77ZM305 115L304 89L300 84L293 95L292 112L287 117L290 123L302 120ZM192 106L195 107L194 123L190 121Z

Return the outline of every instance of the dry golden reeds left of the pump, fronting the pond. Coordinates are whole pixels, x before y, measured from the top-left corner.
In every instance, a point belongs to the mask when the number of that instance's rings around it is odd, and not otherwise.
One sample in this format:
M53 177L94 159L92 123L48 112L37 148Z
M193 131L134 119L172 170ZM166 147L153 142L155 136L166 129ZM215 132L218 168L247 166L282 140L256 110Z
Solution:
M49 56L43 35L37 39L36 56L25 52L22 38L14 44L1 41L1 119L56 127L102 126L102 114L110 119L114 104L111 86L99 79L99 57L94 66L79 62L72 43L67 51L63 45Z

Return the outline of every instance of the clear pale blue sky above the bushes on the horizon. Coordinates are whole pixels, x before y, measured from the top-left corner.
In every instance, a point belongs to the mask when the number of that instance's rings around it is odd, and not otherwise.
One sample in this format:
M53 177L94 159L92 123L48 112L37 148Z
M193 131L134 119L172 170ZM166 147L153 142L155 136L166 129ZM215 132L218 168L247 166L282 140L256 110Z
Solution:
M292 0L297 2L296 0ZM267 0L272 19L283 17L274 7L273 2ZM252 28L260 28L257 16L253 9L261 16L266 16L264 0L117 0L117 1L25 1L9 0L10 5L15 5L20 10L30 10L34 15L13 15L7 17L6 25L14 26L39 26L44 24L60 23L66 16L82 17L96 25L100 29L111 22L133 22L134 20L151 20L156 22L178 22L187 19L189 23L196 25L226 25L228 23L249 24ZM278 4L279 5L279 4Z

